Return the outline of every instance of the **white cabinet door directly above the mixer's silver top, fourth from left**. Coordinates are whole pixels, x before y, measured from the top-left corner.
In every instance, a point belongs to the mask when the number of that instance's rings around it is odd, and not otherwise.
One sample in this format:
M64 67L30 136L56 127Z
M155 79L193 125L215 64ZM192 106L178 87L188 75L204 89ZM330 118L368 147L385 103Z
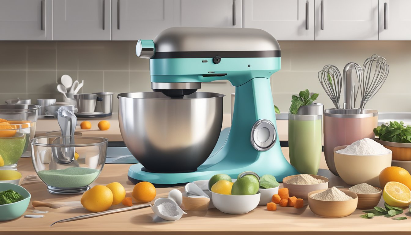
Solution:
M242 0L180 0L180 26L242 27Z

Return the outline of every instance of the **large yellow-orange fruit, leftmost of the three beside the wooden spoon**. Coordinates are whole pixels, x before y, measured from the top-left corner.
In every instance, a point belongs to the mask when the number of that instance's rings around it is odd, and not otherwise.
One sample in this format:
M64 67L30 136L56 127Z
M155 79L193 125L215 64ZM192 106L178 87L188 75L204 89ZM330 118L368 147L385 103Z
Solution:
M81 205L91 212L106 211L113 203L113 193L104 185L96 185L83 193Z

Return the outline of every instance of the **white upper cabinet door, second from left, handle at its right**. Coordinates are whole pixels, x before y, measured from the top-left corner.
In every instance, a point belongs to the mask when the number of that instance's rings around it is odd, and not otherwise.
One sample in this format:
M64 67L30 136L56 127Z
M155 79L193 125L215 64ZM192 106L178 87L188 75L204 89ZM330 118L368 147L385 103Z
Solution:
M53 40L111 40L111 0L53 0Z

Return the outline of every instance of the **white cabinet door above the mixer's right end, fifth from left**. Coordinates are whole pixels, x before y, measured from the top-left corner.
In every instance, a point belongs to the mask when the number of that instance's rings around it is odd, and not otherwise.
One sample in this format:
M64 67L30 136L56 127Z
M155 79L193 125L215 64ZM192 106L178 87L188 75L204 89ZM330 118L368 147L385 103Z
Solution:
M314 0L244 0L244 28L277 40L314 40Z

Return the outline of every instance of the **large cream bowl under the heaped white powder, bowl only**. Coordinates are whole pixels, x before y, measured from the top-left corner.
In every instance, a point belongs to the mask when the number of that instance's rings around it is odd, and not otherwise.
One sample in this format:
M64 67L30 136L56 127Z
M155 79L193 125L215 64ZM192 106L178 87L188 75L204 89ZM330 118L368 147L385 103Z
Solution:
M338 150L347 145L334 148L334 163L339 177L349 185L367 183L380 186L379 175L391 166L391 153L378 155L339 154Z

